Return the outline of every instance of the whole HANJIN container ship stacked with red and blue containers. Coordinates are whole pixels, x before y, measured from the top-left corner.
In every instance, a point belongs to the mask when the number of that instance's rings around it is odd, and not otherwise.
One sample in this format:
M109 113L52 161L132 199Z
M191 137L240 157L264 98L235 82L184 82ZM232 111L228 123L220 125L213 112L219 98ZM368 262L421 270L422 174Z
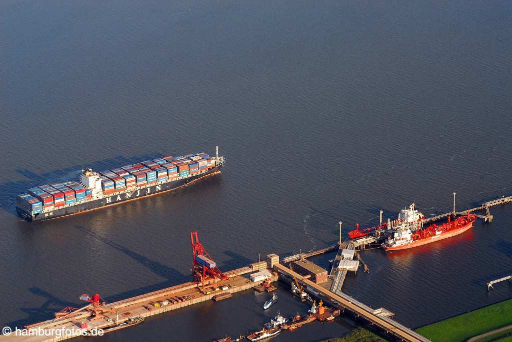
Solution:
M47 220L105 208L174 190L220 172L225 159L205 152L163 156L152 161L95 172L76 181L46 184L16 197L16 212L27 221Z

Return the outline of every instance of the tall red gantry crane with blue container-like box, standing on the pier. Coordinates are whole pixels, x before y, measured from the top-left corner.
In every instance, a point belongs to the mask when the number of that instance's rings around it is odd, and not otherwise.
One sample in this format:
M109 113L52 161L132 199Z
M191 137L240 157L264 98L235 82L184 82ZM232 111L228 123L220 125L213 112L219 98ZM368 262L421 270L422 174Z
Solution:
M194 262L192 265L192 273L194 280L201 283L199 287L203 292L206 292L204 283L212 281L208 287L217 287L217 279L226 280L228 277L220 271L215 261L211 260L208 252L204 249L203 245L199 242L197 232L190 232L190 242L192 243L192 252L194 254Z

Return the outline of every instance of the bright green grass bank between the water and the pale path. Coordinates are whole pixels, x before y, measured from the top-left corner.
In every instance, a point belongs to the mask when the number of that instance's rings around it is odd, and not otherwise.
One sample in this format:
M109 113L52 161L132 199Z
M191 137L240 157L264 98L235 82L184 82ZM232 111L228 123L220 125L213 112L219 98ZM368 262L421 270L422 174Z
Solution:
M512 299L448 318L416 329L434 342L462 342L466 339L512 324ZM500 342L510 339L500 339Z

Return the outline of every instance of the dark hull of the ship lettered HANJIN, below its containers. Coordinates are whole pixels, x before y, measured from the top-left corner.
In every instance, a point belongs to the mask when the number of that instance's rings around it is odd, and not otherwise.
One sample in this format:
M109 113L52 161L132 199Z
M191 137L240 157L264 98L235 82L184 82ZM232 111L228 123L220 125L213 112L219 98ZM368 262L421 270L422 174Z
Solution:
M118 194L113 194L110 196L104 196L99 199L89 200L83 203L76 204L75 206L69 206L66 208L54 209L51 212L42 212L36 215L31 215L27 211L22 208L16 207L16 212L18 215L29 222L32 221L42 221L42 220L50 220L54 218L59 218L63 216L76 215L81 213L87 213L92 210L108 208L110 206L115 206L116 204L125 203L127 201L133 201L136 199L141 199L149 196L154 196L162 193L166 193L172 190L177 190L181 187L187 186L193 183L196 180L220 173L220 168L223 164L218 165L214 168L211 168L207 172L183 178L177 179L173 181L169 181L166 183L158 183L151 186L137 188L130 192L121 192Z

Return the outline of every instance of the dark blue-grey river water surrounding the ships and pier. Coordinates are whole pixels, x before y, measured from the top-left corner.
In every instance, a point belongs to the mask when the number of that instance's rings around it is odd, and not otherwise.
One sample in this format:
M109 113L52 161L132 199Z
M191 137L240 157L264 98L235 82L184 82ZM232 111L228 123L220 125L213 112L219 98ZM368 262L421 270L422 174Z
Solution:
M4 1L0 4L0 325L46 320L189 280L188 233L228 270L374 224L512 193L508 1ZM146 156L215 152L222 175L42 224L15 195ZM512 206L464 235L364 252L345 291L417 327L494 303L512 267ZM316 259L327 267L330 256ZM332 256L331 256L332 257ZM282 313L305 310L283 291ZM273 312L252 292L148 319L105 340L210 340ZM275 341L315 341L316 324Z

